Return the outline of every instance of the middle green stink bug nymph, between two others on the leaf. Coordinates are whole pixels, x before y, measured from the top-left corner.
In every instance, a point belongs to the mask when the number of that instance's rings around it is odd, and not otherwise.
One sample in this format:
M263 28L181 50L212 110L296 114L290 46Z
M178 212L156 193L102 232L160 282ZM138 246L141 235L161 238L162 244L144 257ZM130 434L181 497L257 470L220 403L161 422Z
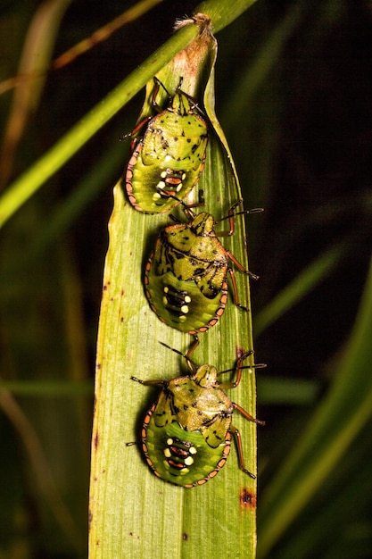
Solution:
M246 310L238 301L229 261L252 278L257 276L245 270L217 238L233 234L236 205L227 216L228 231L216 233L216 221L210 213L195 216L188 208L188 223L178 222L161 230L145 267L145 295L153 312L172 328L196 336L216 324L227 304L227 273L234 303ZM261 211L257 208L244 213Z

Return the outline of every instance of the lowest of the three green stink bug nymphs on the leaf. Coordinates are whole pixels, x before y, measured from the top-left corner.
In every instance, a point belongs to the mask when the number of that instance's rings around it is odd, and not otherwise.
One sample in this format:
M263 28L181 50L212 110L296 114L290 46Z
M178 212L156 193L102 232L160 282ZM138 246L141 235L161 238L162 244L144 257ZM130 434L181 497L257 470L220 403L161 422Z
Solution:
M235 382L220 383L221 373L215 367L205 364L196 368L186 355L188 376L169 382L132 377L145 386L162 385L157 402L146 413L141 431L145 458L155 475L184 488L203 485L225 465L233 434L239 467L255 477L245 468L242 439L231 422L232 415L238 410L248 421L262 425L264 422L231 402L223 391L223 388L236 388L242 369L247 368L243 367L244 359L251 354L252 351L238 358Z

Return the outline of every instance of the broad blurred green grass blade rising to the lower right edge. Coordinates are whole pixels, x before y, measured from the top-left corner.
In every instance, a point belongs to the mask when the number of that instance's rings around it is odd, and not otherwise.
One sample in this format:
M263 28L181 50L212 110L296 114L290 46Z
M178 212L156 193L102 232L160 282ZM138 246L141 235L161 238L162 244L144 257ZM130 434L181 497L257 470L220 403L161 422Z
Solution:
M321 317L319 316L319 320ZM320 490L372 414L372 263L343 361L322 405L262 497L259 556L266 557Z

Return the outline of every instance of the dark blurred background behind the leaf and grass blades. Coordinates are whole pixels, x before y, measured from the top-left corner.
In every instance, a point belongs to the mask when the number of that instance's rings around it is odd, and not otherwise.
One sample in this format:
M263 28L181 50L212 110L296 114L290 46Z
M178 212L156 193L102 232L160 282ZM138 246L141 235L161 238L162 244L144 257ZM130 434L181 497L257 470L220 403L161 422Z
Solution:
M2 79L17 72L23 40L39 4L16 1L0 7L1 27L8 30ZM114 0L72 2L62 19L54 56L129 5ZM196 5L166 0L52 71L15 150L7 182L161 46L175 19L191 14ZM273 41L280 29L281 39ZM289 390L288 401L279 405L274 388L268 390L266 385L260 395L259 379L258 415L267 421L259 439L262 492L335 374L334 364L350 337L367 276L371 31L368 0L258 0L217 35L217 113L235 157L245 207L265 208L260 218L247 221L250 267L260 274L260 281L252 285L253 327L255 316L319 254L337 243L343 246L335 269L255 339L257 360L268 363L259 376L310 380L318 395L296 405ZM0 100L4 129L11 99L8 92ZM1 380L69 379L90 386L112 186L128 161L129 146L118 138L132 129L142 102L143 96L136 96L4 227ZM97 162L111 150L112 163L103 164L99 177ZM63 204L92 170L88 180L95 195L53 231ZM50 513L48 498L33 473L34 467L43 471L42 458L37 446L28 450L26 442L32 433L21 429L19 416L3 399L0 555L84 556L79 546L85 545L91 392L66 398L40 394L14 398L41 440L81 541L66 536L73 532L69 521L56 522ZM366 448L360 447L360 460L370 459ZM349 475L357 471L358 461ZM53 491L49 497L53 500ZM62 510L58 503L56 510L58 517ZM363 532L360 545L341 556L370 556L370 513L370 505L356 510L367 534ZM317 556L340 556L334 544L331 538Z

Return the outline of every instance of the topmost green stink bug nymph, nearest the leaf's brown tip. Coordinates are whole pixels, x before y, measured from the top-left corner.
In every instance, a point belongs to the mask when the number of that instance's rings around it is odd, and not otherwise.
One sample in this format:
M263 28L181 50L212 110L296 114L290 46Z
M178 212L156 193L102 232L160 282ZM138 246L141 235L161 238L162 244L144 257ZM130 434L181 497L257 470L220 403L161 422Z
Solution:
M129 202L145 213L169 212L187 196L203 171L208 142L207 123L181 84L163 111L155 102L162 84L154 81L153 107L161 112L145 120L144 137L136 144L126 173Z

